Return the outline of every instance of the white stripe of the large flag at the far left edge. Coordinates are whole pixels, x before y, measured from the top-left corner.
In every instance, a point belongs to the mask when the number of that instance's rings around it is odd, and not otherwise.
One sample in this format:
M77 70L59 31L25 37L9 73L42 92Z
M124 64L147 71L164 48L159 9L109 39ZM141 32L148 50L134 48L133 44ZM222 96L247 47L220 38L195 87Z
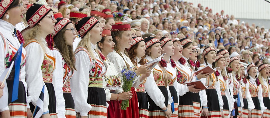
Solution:
M5 108L8 106L8 101L9 101L9 91L8 91L8 86L6 83L7 77L9 77L9 74L13 68L14 61L10 63L10 66L4 70L2 75L0 76L0 81L2 81L5 84L5 87L3 89L3 96L0 98L0 109Z

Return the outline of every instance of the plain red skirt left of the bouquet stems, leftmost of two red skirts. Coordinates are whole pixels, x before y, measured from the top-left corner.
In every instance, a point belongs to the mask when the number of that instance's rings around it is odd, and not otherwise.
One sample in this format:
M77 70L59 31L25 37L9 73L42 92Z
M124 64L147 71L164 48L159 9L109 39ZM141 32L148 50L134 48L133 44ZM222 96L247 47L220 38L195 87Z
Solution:
M121 107L118 100L107 101L109 107L107 108L107 118L122 118Z

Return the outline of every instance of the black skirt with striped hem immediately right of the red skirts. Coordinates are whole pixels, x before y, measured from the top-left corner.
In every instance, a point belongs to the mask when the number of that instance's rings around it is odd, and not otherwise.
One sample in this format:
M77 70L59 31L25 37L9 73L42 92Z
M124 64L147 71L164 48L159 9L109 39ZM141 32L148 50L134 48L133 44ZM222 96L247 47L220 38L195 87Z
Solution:
M140 118L148 118L148 99L144 92L137 92L138 102L139 102L139 116Z

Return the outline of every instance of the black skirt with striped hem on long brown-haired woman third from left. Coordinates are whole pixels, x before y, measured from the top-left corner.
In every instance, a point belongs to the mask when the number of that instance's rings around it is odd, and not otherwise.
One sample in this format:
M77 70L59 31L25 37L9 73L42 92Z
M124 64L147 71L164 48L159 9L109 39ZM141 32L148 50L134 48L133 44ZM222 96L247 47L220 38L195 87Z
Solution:
M66 118L76 118L74 100L71 93L63 93L66 105Z

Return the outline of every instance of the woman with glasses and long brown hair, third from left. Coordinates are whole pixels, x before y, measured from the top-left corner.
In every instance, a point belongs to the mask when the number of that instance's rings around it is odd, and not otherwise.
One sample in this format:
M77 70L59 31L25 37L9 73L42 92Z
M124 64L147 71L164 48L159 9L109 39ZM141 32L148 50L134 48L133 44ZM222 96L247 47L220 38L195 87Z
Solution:
M55 70L53 72L54 89L57 94L59 107L58 117L76 117L74 100L71 95L70 78L75 68L73 41L76 32L72 22L67 18L57 18L53 33Z

